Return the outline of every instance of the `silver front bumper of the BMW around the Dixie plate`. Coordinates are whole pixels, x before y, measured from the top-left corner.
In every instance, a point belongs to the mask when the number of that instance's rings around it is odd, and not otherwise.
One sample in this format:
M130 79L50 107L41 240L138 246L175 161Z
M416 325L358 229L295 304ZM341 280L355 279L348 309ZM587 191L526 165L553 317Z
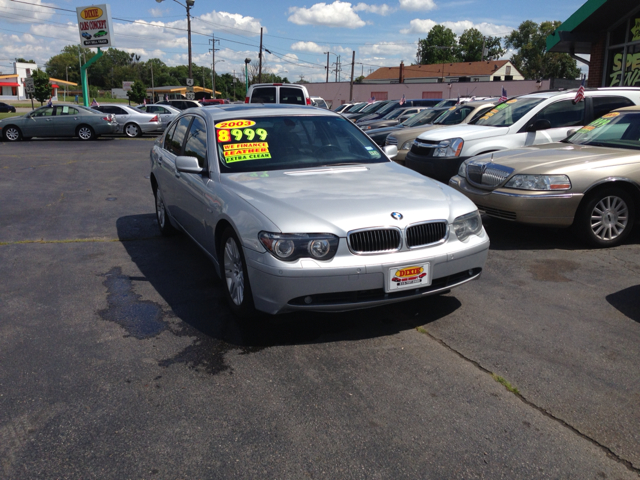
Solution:
M311 259L289 265L269 253L244 249L255 306L271 314L341 312L438 294L478 278L488 251L484 229L464 242L448 240L434 247L384 255L353 255L341 239L336 257L325 265ZM337 265L329 266L334 261ZM390 268L424 263L431 268L431 285L385 291Z

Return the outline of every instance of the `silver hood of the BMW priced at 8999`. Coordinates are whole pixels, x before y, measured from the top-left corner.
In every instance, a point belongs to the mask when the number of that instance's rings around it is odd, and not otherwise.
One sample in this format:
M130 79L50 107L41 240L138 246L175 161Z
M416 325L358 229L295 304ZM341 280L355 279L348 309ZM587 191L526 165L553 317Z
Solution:
M394 162L224 174L222 182L286 233L344 237L359 228L453 221L475 209L455 190Z

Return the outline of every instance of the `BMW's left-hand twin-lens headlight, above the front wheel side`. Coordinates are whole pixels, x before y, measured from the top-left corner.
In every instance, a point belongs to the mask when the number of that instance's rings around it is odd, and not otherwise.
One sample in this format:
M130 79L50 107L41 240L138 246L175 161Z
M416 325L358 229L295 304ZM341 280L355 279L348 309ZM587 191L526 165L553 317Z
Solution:
M338 237L330 233L270 233L260 232L258 238L278 260L293 262L308 257L329 260L338 250Z

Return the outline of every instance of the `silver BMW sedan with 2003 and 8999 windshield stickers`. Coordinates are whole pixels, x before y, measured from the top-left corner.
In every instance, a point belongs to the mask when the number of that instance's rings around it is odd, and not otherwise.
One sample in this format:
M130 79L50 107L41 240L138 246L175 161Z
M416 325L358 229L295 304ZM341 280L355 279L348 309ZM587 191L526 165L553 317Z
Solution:
M186 110L151 150L160 230L206 252L239 317L366 308L478 278L478 209L384 148L325 109Z

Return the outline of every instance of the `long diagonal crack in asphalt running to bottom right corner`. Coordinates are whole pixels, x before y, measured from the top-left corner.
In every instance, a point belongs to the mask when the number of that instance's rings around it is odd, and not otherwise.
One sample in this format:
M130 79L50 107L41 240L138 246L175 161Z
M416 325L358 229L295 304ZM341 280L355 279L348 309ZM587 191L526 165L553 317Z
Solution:
M625 467L627 467L627 469L629 469L630 471L640 475L640 468L636 468L633 463L631 463L629 460L622 458L620 455L616 454L613 450L611 450L609 447L607 447L606 445L604 445L603 443L600 443L598 440L594 439L593 437L590 437L589 435L581 432L580 430L578 430L576 427L574 427L573 425L569 424L568 422L566 422L565 420L563 420L562 418L554 415L553 413L549 412L548 410L546 410L545 408L542 408L538 405L536 405L535 403L533 403L531 400L527 399L517 388L514 388L511 386L511 384L504 380L502 377L500 377L498 374L492 372L491 370L489 370L486 367L483 367L479 362L477 362L476 360L473 360L472 358L466 356L465 354L463 354L462 352L456 350L455 348L453 348L451 345L449 345L447 342L445 342L444 340L434 336L432 333L430 333L426 328L424 327L417 327L416 330L423 334L426 335L427 337L429 337L430 339L434 340L435 342L439 343L440 345L442 345L444 348L446 348L447 350L449 350L450 352L454 353L455 355L457 355L458 357L462 358L464 361L472 364L473 366L475 366L477 369L479 369L480 371L482 371L483 373L486 373L487 375L490 375L493 380L497 381L498 383L502 384L508 391L510 391L511 393L513 393L513 395L515 395L521 402L523 402L525 405L534 408L535 410L537 410L538 412L540 412L542 415L544 415L547 418L550 418L551 420L559 423L560 425L562 425L563 427L567 428L569 431L571 431L572 433L574 433L575 435L587 440L588 442L590 442L592 445L595 445L596 447L600 448L609 458L612 458L613 460L615 460L616 462L624 465Z

